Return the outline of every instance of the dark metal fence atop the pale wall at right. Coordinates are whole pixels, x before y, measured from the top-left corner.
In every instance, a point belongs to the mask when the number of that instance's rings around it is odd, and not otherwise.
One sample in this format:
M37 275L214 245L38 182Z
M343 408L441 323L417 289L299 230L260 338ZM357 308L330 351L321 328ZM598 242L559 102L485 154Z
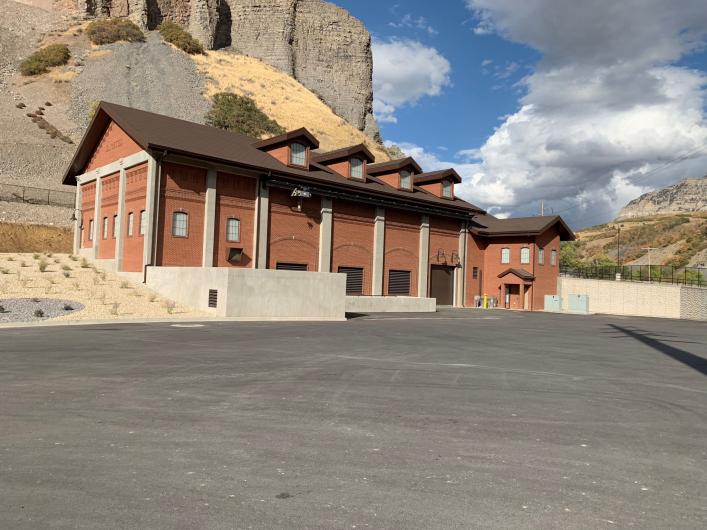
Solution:
M562 267L560 274L571 278L591 280L677 283L707 287L707 268L702 267L677 268L672 265Z

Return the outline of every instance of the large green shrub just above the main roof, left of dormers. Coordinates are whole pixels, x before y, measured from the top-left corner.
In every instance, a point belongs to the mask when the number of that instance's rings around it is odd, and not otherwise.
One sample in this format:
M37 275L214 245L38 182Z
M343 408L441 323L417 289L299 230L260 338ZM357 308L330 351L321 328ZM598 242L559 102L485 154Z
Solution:
M285 129L260 110L252 99L228 92L214 95L211 110L206 114L206 123L253 138L285 133Z

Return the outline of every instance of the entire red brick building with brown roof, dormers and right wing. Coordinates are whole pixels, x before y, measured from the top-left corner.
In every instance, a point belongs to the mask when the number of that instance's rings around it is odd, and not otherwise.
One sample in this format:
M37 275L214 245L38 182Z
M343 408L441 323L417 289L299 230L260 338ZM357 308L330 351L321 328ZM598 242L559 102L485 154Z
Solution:
M497 219L455 194L453 170L319 152L306 129L268 140L101 102L64 176L75 250L149 267L334 272L346 294L541 310L555 294L558 216Z

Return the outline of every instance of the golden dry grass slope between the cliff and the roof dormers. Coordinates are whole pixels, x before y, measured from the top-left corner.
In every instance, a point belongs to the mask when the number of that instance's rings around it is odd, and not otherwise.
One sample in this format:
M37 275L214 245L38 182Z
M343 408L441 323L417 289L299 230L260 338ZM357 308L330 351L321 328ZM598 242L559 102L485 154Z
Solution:
M380 145L334 114L316 94L261 60L224 50L194 60L207 77L209 96L216 92L248 96L285 129L309 129L324 151L365 143L377 161L390 160Z

